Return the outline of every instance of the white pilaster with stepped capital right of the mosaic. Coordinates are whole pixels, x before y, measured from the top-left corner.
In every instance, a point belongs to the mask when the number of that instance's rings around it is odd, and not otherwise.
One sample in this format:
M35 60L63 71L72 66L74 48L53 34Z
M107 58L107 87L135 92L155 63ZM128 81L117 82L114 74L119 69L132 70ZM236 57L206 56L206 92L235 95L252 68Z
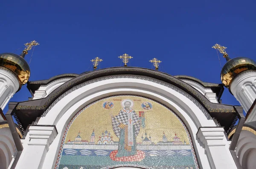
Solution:
M212 169L237 169L222 127L200 127L197 133Z

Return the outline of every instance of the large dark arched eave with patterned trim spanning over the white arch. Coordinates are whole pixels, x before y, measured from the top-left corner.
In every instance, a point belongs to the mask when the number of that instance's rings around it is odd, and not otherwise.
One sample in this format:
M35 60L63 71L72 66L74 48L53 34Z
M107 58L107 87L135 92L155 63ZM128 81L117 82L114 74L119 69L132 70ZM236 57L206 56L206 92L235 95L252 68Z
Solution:
M195 98L207 110L212 118L217 119L217 121L221 124L221 126L224 127L226 131L232 129L233 125L235 124L234 121L237 119L237 112L232 105L211 103L200 92L177 77L156 70L134 67L105 68L81 74L55 89L46 98L19 102L12 114L14 114L19 126L26 129L29 124L32 124L37 117L41 116L44 111L47 110L55 99L57 99L67 90L70 90L72 87L92 79L113 75L147 76L175 85Z

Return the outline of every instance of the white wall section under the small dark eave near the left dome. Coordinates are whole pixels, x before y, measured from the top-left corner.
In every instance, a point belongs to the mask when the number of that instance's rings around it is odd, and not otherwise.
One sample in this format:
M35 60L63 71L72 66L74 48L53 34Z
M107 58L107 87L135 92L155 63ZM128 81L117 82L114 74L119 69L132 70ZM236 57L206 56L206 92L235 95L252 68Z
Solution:
M38 90L35 90L33 100L47 97L52 91L63 85L65 82L73 78L61 78L50 82L47 85L41 85Z

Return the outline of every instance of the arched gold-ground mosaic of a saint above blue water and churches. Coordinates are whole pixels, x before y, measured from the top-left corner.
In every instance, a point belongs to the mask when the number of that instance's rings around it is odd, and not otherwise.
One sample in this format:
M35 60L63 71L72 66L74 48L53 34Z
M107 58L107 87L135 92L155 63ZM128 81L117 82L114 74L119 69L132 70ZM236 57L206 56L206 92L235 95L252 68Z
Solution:
M199 169L180 118L141 96L111 96L84 107L61 143L55 169Z

